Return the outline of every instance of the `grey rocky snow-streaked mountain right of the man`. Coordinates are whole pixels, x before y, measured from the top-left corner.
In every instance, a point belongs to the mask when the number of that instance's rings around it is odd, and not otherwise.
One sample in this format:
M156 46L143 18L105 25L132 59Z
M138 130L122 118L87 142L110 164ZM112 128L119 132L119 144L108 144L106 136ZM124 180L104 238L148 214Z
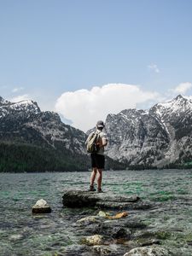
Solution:
M186 166L192 161L192 100L177 96L148 111L108 114L108 156L135 168Z

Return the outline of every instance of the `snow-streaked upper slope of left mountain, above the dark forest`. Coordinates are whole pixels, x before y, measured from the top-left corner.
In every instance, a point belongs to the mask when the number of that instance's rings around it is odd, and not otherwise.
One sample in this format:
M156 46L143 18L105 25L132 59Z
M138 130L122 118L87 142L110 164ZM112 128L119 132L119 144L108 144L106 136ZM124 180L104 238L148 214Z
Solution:
M84 152L83 131L65 125L57 113L41 112L37 102L8 102L0 98L0 139Z

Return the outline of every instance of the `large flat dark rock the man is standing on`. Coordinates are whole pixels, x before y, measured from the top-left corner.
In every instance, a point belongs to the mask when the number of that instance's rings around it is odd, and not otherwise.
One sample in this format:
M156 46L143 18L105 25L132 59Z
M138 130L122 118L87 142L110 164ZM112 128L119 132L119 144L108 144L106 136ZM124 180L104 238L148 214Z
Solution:
M107 209L145 210L151 207L137 195L119 196L112 193L96 193L82 190L67 190L62 196L65 207L98 207Z

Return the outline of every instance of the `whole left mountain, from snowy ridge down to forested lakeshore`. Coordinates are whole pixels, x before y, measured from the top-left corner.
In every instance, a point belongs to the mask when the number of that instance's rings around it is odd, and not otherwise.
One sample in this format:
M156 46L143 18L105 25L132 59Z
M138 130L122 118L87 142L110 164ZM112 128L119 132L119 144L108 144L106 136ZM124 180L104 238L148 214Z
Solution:
M86 170L85 138L37 102L0 97L0 172Z

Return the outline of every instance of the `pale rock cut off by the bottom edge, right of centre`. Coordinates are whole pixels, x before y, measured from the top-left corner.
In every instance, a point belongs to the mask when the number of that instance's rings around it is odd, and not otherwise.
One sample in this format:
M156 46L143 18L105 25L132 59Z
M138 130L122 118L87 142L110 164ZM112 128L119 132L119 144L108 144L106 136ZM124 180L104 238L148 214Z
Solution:
M124 256L171 256L170 250L165 247L137 247L125 253Z

